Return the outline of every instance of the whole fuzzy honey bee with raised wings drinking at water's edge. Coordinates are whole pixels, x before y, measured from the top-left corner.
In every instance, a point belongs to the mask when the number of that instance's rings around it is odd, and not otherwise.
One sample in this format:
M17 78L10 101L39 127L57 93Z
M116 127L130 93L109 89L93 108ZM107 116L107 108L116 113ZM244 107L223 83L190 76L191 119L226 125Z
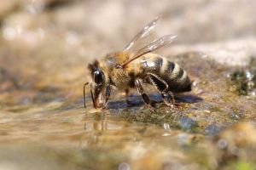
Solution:
M160 37L136 53L129 51L137 40L146 37L150 31L154 30L158 22L159 18L151 21L123 51L107 54L102 60L96 60L88 66L93 80L90 83L90 94L95 108L106 106L112 87L125 91L127 103L129 103L129 88L137 88L143 102L149 108L152 104L148 95L144 93L143 83L153 85L160 92L165 104L169 106L174 104L172 92L191 90L191 82L186 71L159 54L150 53L172 42L176 36ZM84 84L84 88L87 84L88 82Z

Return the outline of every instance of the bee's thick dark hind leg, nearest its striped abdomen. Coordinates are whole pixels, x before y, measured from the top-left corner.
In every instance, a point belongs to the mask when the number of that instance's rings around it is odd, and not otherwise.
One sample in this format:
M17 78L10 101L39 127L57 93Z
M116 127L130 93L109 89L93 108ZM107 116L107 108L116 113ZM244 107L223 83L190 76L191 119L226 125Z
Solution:
M160 92L162 99L167 106L173 107L175 105L174 95L168 92L168 84L166 81L152 73L148 73L147 81Z

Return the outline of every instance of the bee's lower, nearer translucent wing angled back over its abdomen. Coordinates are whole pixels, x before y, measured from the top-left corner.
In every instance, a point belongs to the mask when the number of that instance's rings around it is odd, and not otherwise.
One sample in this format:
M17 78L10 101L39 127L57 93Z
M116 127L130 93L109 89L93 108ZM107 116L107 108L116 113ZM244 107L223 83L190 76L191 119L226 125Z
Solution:
M137 53L131 59L128 59L127 61L125 61L125 63L123 63L122 66L128 65L129 63L131 63L131 61L141 57L143 54L148 54L158 48L161 48L173 42L176 39L176 37L177 36L174 36L174 35L166 35L166 36L160 37L159 39L154 40L144 48L141 48L140 50L138 50Z

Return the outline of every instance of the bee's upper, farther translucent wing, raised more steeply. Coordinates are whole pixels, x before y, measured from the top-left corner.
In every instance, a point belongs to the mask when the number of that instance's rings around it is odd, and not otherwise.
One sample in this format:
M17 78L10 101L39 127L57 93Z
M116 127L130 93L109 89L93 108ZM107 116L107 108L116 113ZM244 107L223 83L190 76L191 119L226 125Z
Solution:
M159 23L159 21L160 17L156 17L154 20L149 22L147 26L144 26L143 30L139 31L137 35L131 39L131 42L127 44L124 51L129 50L135 44L135 42L137 42L137 40L148 36L148 34L154 30L155 26Z

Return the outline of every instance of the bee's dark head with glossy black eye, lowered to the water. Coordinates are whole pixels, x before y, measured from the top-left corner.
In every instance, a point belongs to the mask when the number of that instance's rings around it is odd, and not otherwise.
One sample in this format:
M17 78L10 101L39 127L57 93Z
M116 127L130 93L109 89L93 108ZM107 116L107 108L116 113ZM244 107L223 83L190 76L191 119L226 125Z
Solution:
M101 107L100 105L105 105L105 95L104 89L106 89L106 79L104 72L99 67L99 62L96 60L93 64L88 65L90 70L90 75L92 77L92 100L94 101L95 107Z

